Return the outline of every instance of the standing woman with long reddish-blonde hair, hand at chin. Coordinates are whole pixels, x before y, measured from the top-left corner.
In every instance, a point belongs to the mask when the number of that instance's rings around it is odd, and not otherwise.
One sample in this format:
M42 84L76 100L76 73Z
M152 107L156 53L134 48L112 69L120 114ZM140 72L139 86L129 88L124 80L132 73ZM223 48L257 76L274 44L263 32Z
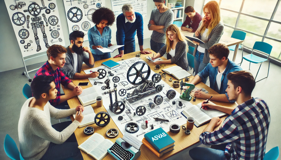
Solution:
M204 7L205 17L199 24L193 37L201 39L205 44L193 41L196 46L193 52L195 74L201 72L210 62L208 49L219 42L224 26L220 22L220 9L216 1L209 1ZM202 82L206 83L206 80Z

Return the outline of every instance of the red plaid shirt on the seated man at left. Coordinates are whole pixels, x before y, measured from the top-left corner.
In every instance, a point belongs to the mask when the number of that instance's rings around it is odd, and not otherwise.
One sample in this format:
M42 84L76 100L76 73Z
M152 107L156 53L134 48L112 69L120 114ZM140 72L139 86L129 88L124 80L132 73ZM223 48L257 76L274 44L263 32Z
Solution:
M67 87L67 84L71 83L72 81L68 79L65 74L62 73L62 70L58 67L55 71L51 67L50 63L47 61L44 65L42 65L41 68L36 72L35 77L37 76L54 76L55 77L55 84L56 84L56 89L58 90L56 99L54 100L49 100L51 105L58 105L60 102L60 84L64 85Z

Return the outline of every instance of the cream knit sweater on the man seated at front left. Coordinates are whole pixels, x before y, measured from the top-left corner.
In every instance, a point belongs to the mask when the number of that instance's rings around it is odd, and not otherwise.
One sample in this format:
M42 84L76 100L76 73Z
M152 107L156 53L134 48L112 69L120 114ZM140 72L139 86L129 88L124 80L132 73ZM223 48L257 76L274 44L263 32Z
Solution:
M56 131L51 125L51 118L62 119L75 114L73 109L56 109L49 102L44 106L44 111L29 107L29 98L21 108L18 121L18 137L20 152L25 160L41 159L47 151L50 142L64 143L79 126L79 121L74 120L62 132Z

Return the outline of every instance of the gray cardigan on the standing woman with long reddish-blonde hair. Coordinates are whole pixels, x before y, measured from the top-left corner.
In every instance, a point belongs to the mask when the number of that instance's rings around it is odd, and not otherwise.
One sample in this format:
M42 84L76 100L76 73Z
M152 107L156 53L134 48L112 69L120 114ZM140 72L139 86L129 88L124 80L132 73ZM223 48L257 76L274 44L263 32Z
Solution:
M202 21L199 23L199 26L201 25L201 23L202 23ZM221 22L219 22L215 26L215 28L211 31L211 33L209 34L207 42L205 44L200 43L200 47L205 48L203 63L210 62L208 49L210 49L214 44L219 43L219 39L221 39L223 29L224 29L224 25ZM195 33L194 33L193 37L197 37L197 36L195 36ZM199 37L200 37L200 35L197 38L199 38ZM195 57L195 53L197 51L197 47L198 47L198 45L196 44L194 52L193 52L194 57Z

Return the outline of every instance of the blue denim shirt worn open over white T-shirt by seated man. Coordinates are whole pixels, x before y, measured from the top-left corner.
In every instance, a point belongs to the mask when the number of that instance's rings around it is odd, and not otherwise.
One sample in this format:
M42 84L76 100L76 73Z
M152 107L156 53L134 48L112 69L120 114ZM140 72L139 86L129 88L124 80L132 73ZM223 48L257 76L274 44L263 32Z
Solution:
M198 73L197 75L203 80L209 76L210 79L210 88L214 89L216 85L216 75L218 74L219 67L212 67L211 63L209 63L203 71ZM225 71L222 73L222 80L221 80L221 87L219 89L219 94L225 94L227 99L229 100L229 97L227 95L227 92L225 91L227 88L227 74L233 71L241 71L242 68L234 63L233 61L228 59L227 66L225 68ZM229 100L229 102L235 102Z

